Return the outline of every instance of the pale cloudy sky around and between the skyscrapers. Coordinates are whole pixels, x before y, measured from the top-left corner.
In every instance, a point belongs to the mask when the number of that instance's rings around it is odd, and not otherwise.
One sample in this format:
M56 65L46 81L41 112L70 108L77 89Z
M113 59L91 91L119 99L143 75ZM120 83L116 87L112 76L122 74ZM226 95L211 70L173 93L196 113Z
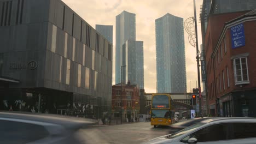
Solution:
M113 84L115 84L115 16L123 10L136 14L136 40L144 41L144 88L154 93L156 88L155 19L170 13L182 17L184 21L194 16L193 0L62 0L92 27L113 25ZM197 22L199 22L202 0L196 0ZM198 26L199 45L202 43L201 27ZM184 31L185 32L185 31ZM196 49L185 37L187 69L187 91L196 87ZM199 47L200 49L200 47ZM191 83L191 85L190 85Z

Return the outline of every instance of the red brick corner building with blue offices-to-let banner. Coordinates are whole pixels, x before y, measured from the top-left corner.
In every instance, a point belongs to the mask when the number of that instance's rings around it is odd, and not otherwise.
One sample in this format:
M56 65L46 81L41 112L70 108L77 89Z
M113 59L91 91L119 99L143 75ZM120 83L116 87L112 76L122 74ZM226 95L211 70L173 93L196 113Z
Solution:
M212 116L256 117L255 27L256 10L208 19L205 47Z

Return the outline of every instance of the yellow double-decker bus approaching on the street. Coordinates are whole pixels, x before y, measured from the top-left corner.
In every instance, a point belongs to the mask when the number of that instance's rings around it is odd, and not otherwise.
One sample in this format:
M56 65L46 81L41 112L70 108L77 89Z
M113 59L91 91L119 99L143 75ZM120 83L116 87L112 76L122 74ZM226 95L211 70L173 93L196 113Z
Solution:
M151 125L171 125L175 122L174 110L171 105L171 95L156 93L151 101Z

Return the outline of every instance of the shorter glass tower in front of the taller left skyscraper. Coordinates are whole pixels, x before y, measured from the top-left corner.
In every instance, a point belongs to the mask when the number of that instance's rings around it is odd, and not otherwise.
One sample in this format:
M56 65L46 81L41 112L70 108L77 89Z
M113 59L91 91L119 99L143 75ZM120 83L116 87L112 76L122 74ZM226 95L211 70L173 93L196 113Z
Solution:
M144 89L143 41L127 40L123 45L123 83Z

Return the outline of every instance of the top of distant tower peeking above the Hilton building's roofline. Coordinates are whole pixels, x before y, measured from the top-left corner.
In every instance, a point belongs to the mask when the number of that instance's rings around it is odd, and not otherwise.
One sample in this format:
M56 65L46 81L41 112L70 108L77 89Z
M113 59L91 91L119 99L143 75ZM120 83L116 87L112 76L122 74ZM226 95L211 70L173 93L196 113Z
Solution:
M113 44L113 26L96 25L96 31L103 35L111 44Z

